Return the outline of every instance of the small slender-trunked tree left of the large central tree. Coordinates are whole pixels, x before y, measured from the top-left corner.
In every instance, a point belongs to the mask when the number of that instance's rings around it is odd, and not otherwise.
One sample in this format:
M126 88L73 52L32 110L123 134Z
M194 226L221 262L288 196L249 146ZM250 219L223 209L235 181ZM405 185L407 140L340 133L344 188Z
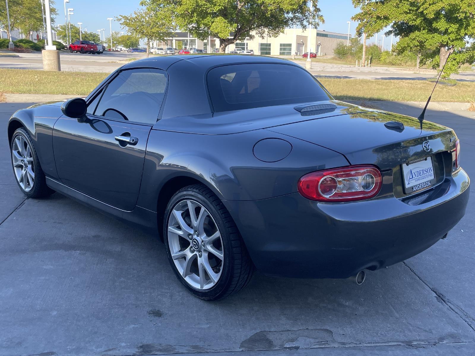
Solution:
M155 11L137 10L132 15L116 17L123 28L127 28L134 37L147 41L147 57L151 41L163 41L171 36L171 25Z

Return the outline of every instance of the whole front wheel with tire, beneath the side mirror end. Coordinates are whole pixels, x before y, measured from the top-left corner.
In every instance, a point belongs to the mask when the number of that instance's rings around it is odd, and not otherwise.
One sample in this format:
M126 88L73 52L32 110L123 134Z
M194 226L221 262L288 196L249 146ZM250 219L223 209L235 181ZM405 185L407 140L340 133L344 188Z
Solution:
M13 173L23 194L31 198L53 194L54 190L46 185L46 177L28 131L19 128L13 133L10 150Z

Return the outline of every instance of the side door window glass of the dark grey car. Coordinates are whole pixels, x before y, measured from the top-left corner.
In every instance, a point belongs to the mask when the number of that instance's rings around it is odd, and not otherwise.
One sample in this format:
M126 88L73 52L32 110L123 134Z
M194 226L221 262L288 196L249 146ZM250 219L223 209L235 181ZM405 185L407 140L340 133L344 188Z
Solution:
M95 115L154 124L167 87L160 69L124 70L107 85Z

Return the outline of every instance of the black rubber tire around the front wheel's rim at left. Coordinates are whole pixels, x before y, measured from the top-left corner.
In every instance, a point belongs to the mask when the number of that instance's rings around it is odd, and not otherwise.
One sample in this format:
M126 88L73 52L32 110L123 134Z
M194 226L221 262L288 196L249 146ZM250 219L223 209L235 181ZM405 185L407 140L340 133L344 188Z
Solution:
M25 189L23 189L20 186L18 179L15 178L18 184L18 187L21 189L23 194L25 194L27 197L30 197L30 198L42 198L42 197L50 196L55 191L46 185L45 173L43 172L43 169L41 169L41 165L39 164L38 154L36 153L35 145L33 144L31 140L31 136L29 135L28 131L25 128L20 127L15 132L13 132L12 140L10 143L10 152L13 150L13 142L15 141L15 138L17 138L18 136L22 136L25 139L25 141L27 141L29 147L31 148L31 155L33 158L33 167L34 167L34 173L35 173L35 178L34 178L33 186L31 190L26 191ZM13 169L13 158L11 157L11 155L10 155L10 160L11 160L12 169ZM15 172L14 172L14 175L15 175Z

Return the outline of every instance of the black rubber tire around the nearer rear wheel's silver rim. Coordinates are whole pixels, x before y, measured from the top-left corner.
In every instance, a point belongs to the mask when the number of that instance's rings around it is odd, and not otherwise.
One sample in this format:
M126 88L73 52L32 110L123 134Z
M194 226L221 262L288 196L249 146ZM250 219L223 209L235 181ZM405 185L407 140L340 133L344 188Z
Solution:
M168 242L168 222L174 206L183 200L194 200L205 207L213 217L221 235L224 261L218 282L207 290L199 290L188 284L177 270L171 257ZM163 241L171 268L178 280L196 297L203 300L219 300L244 288L252 277L254 265L246 246L228 210L219 198L207 187L195 184L184 187L171 197L165 210Z

